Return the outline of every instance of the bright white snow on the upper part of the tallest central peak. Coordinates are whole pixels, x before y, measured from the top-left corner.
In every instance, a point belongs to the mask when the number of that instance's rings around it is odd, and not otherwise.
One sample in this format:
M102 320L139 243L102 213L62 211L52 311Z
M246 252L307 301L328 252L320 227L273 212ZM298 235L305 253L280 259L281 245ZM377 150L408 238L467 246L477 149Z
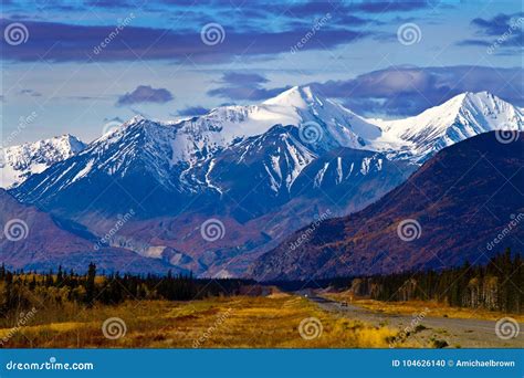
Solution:
M292 87L259 105L222 106L200 117L175 125L179 129L180 159L191 160L191 153L226 147L231 141L261 135L274 125L302 126L311 123L319 133L317 148L365 148L367 139L380 135L377 126L322 97L312 87Z

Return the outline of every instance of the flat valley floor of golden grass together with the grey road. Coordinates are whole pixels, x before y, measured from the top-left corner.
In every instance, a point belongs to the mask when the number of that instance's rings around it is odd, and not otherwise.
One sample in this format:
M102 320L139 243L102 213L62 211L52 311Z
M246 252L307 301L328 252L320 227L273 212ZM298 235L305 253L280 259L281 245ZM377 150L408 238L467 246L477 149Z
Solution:
M468 319L429 316L399 338L412 315L388 315L358 304L305 298L275 291L268 296L216 297L192 302L129 301L117 306L65 308L60 321L53 312L36 312L34 318L13 332L2 322L0 339L9 348L421 348L421 347L522 347L524 338L502 340L495 322L468 309ZM358 302L357 302L358 303ZM423 311L425 303L417 303ZM431 307L431 304L428 304ZM387 308L387 304L380 304ZM453 308L448 308L450 313ZM495 316L502 314L493 313ZM520 319L521 326L524 318ZM114 339L102 330L106 319L125 325ZM311 319L311 339L301 336L301 322ZM256 325L253 327L253 325ZM321 328L322 327L322 332ZM306 330L303 330L306 332ZM314 337L313 337L314 336ZM394 344L391 344L394 343Z

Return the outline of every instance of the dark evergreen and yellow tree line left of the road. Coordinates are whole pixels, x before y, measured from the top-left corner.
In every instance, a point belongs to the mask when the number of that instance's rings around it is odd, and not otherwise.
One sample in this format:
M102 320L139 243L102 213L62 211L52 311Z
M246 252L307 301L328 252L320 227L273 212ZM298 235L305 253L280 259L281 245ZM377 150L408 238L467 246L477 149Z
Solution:
M67 302L92 307L116 305L126 300L190 301L208 296L235 295L241 286L253 282L243 280L195 279L192 274L132 275L114 273L97 275L91 263L85 274L57 272L46 274L10 271L0 266L0 317L9 316L39 303L60 305Z

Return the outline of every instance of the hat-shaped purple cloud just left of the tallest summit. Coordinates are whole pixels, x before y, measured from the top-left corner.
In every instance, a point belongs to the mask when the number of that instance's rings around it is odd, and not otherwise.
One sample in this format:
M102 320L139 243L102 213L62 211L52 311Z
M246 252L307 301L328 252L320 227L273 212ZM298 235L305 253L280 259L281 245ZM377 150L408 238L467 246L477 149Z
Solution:
M276 96L290 86L264 88L268 78L256 73L227 72L222 75L222 86L208 91L208 95L233 101L260 101Z

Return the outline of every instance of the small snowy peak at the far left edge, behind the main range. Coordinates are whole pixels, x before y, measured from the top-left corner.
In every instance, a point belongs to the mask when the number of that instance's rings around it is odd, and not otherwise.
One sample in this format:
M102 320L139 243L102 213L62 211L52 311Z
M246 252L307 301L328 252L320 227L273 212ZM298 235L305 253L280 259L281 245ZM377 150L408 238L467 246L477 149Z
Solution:
M18 186L29 176L40 174L84 148L83 141L66 134L0 149L0 188Z

